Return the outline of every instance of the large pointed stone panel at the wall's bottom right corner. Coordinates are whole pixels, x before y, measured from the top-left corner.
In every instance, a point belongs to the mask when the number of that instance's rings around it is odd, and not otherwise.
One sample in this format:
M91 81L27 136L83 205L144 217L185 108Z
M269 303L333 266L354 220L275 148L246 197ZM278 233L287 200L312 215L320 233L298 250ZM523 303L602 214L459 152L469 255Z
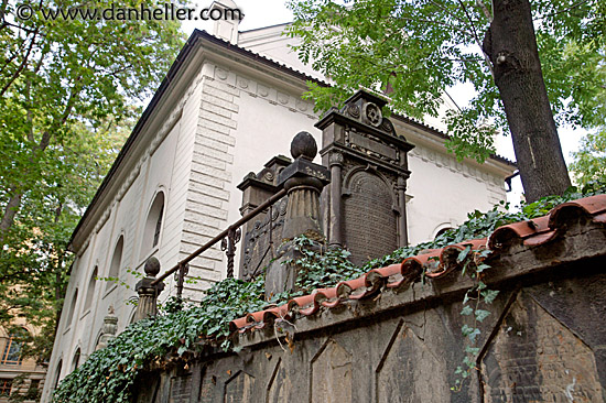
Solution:
M521 293L483 359L484 399L493 402L599 402L591 348Z

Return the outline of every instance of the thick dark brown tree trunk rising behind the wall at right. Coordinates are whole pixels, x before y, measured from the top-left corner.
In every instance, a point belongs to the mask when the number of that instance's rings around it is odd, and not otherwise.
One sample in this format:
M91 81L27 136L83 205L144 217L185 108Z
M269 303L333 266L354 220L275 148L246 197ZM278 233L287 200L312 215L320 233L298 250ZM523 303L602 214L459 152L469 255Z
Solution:
M507 115L528 202L562 194L571 181L548 99L528 0L494 0L484 52Z

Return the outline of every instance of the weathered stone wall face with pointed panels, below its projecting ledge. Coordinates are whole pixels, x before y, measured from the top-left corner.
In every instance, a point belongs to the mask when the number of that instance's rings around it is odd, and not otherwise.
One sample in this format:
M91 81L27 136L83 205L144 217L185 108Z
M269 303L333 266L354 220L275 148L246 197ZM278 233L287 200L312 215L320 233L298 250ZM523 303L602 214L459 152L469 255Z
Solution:
M450 389L464 351L456 301L296 334L292 351L269 337L201 357L150 374L138 402L600 402L606 333L595 320L605 287L606 274L593 273L501 292L483 329L480 377L459 392Z

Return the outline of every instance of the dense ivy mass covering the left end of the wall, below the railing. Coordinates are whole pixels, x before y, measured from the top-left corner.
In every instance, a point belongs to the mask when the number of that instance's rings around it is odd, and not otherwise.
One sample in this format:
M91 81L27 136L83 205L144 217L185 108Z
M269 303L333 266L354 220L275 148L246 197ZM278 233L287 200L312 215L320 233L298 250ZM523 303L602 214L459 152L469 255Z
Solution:
M226 279L206 291L199 306L130 325L61 382L54 402L130 402L137 374L165 366L171 351L181 355L205 342L227 349L229 322L267 305L261 279Z

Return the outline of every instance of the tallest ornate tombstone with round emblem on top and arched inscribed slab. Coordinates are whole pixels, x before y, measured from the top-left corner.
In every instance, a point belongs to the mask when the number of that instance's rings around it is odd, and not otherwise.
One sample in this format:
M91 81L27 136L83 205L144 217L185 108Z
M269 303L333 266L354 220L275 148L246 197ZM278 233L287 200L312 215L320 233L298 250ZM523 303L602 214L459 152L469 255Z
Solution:
M316 123L332 176L323 194L328 242L347 247L358 264L408 244L407 153L414 145L382 116L386 104L359 90Z

